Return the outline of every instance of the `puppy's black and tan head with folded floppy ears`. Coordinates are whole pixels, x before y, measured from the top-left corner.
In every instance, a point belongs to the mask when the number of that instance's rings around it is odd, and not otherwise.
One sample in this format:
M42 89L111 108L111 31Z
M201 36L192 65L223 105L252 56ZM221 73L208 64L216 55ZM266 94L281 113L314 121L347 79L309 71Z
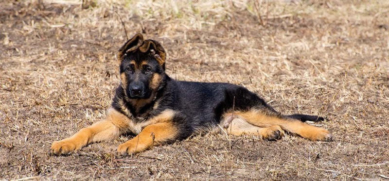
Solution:
M166 53L159 42L136 34L119 49L122 86L129 99L148 99L165 77Z

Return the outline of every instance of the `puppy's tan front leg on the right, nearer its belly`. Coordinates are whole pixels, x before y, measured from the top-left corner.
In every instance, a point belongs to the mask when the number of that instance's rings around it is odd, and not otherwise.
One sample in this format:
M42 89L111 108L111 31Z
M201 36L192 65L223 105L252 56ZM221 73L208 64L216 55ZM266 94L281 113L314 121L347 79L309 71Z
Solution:
M177 137L177 128L171 122L146 126L135 138L119 145L121 155L142 152L154 145L172 141Z

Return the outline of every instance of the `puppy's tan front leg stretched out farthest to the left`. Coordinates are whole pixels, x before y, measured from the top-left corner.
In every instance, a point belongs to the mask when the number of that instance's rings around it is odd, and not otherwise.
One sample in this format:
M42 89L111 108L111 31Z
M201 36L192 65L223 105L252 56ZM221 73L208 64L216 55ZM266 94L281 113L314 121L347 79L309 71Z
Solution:
M55 141L50 152L54 155L64 155L93 142L115 139L128 128L128 123L128 117L109 109L105 121L83 128L69 138Z

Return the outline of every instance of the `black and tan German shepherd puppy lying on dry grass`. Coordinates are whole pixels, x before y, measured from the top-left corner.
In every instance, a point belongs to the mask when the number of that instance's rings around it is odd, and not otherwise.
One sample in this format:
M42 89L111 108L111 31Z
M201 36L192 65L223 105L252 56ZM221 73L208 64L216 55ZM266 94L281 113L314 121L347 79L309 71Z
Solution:
M120 85L106 120L56 141L54 155L93 142L137 134L119 145L122 155L169 144L194 134L221 131L278 140L284 131L312 141L332 141L330 132L305 124L316 115L282 115L248 89L230 83L184 82L165 73L166 53L159 42L136 34L118 53Z

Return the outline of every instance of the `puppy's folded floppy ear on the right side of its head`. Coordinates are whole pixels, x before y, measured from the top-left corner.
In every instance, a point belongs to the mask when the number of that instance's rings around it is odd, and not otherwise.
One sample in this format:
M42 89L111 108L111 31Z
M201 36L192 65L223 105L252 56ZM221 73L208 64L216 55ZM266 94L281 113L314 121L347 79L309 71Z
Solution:
M141 52L147 52L150 51L150 54L154 56L155 59L159 62L159 64L162 67L165 67L165 60L166 60L166 52L165 49L163 49L162 45L159 44L158 41L155 40L144 40L141 47L139 47L139 50Z

